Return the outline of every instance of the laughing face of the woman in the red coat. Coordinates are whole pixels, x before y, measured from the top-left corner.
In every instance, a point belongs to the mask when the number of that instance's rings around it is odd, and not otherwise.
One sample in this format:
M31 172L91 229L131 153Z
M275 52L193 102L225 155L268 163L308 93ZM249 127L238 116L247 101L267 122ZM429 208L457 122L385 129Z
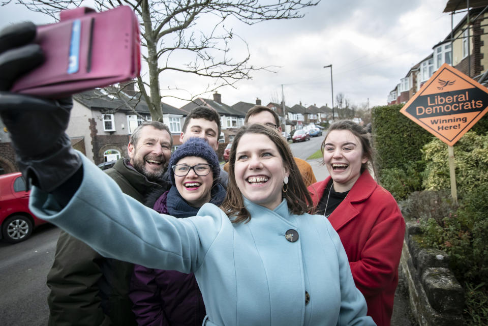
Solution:
M346 192L361 175L361 164L368 162L360 140L349 130L332 130L324 141L324 163L334 190Z

